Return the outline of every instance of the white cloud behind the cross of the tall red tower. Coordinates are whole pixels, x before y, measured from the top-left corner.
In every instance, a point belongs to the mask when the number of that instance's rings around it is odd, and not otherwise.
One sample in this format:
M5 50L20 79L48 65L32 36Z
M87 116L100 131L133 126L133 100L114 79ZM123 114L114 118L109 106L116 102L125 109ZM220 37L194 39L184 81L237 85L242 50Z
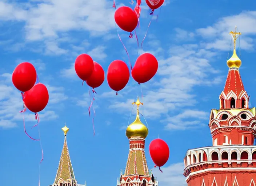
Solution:
M253 50L253 39L251 35L256 34L256 11L245 11L235 16L222 17L213 26L199 28L196 33L202 36L206 41L202 43L206 49L229 50L231 36L230 31L235 29L235 25L242 33L240 45L242 49Z

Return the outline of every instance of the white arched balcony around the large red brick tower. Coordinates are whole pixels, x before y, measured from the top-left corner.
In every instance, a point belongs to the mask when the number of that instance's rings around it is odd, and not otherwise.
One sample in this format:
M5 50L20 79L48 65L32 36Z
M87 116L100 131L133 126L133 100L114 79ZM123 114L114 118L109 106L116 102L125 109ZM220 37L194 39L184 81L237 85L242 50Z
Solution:
M256 172L256 146L227 145L189 149L184 164L186 180L208 171Z

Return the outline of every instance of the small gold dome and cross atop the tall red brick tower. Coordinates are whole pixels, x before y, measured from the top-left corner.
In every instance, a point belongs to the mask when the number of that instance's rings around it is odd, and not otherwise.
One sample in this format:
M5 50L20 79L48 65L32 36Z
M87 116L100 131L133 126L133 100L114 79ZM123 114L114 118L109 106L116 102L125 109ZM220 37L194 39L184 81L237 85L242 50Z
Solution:
M237 38L241 35L241 32L236 32L235 27L235 32L231 31L229 34L232 36L233 42L234 42L234 50L233 50L233 55L231 58L227 61L227 65L229 68L239 68L242 64L241 60L236 54L236 40Z

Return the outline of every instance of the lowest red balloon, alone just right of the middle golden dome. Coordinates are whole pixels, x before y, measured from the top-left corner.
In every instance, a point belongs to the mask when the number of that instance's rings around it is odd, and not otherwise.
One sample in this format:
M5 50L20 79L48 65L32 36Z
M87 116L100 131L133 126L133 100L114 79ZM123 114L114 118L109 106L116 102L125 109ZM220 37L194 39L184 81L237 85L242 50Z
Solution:
M169 159L169 147L164 140L155 139L149 144L149 153L156 166L163 166Z

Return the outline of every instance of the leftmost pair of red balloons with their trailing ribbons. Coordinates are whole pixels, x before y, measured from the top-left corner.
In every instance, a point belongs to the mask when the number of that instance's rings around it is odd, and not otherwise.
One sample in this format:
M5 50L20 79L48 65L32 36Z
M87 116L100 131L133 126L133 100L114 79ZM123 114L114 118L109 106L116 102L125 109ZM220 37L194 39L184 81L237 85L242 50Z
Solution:
M20 112L25 112L28 109L35 113L38 125L39 117L37 113L42 111L48 104L49 93L46 86L39 82L35 67L29 62L22 62L17 65L12 73L12 83L21 91L24 109ZM24 130L27 134L25 123Z

